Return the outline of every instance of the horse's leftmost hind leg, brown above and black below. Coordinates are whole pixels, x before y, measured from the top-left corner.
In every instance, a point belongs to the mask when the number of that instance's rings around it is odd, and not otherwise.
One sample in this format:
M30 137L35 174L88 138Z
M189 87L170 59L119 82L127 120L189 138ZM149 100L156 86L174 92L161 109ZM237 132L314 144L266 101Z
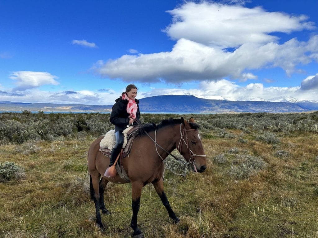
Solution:
M95 203L96 224L98 227L100 227L103 230L104 226L101 222L101 216L100 216L99 182L100 182L100 174L99 173L98 173L98 175L97 174L95 174L95 175L90 174L90 190L91 190L91 197Z

